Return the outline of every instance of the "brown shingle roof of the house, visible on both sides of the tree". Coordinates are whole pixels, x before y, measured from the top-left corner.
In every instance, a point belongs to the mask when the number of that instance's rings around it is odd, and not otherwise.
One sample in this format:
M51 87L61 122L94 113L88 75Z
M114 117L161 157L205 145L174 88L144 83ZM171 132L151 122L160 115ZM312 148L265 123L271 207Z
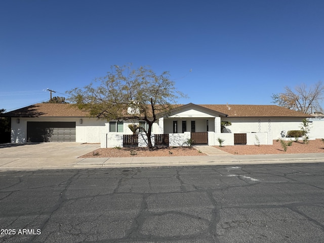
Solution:
M191 104L191 103L190 103ZM187 105L190 105L187 104ZM185 105L185 106L187 106ZM192 104L194 105L194 104ZM312 117L277 105L197 105L227 114L228 117ZM175 105L181 107L181 105ZM89 112L72 104L39 103L3 114L9 117L86 117Z

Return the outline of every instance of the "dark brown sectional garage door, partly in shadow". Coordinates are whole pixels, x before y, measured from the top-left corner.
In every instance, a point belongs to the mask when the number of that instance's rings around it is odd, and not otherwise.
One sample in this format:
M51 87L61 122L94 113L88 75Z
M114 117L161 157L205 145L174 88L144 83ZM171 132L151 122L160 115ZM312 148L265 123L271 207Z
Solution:
M28 142L75 142L75 122L27 121Z

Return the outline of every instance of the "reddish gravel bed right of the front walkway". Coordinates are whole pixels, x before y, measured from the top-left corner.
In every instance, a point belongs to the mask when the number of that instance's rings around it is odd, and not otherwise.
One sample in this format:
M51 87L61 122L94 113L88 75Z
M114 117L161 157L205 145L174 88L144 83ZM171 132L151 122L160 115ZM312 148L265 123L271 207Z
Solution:
M288 141L286 141L287 143ZM308 144L303 141L293 142L284 151L280 141L273 140L273 145L234 145L234 146L214 146L231 154L278 154L278 153L324 153L324 143L321 139L310 140Z

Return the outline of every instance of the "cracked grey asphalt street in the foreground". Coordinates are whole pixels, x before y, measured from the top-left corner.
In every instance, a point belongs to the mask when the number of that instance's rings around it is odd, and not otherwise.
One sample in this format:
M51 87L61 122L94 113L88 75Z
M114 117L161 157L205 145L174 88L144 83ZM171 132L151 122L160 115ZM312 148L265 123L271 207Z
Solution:
M0 242L323 242L324 164L0 172Z

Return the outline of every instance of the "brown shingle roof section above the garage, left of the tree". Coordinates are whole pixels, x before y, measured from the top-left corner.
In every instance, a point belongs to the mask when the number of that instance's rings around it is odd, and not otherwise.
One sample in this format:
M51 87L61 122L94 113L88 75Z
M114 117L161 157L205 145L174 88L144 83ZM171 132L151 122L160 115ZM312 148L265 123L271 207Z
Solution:
M9 117L85 117L89 113L72 104L39 103L3 114Z

